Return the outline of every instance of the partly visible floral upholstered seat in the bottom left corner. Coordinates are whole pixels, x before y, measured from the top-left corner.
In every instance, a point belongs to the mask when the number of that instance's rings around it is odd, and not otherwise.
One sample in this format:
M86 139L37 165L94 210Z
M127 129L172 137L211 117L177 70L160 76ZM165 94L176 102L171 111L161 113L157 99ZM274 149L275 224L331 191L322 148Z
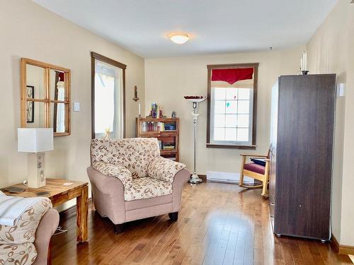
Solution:
M0 225L0 264L45 265L59 213L49 199L28 208L15 226Z

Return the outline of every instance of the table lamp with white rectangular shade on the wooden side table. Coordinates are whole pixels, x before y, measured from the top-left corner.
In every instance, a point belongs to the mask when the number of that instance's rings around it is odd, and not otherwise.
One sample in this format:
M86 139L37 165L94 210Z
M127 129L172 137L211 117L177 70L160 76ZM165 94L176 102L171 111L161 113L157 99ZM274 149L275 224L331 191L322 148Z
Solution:
M18 152L28 153L27 182L30 188L45 186L45 151L53 150L52 128L18 128Z

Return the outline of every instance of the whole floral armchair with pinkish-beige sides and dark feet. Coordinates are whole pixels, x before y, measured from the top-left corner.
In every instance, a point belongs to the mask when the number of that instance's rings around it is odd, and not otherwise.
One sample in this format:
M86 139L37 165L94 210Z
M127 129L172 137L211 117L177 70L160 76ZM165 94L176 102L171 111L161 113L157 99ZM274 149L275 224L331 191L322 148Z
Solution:
M93 139L87 168L96 211L115 225L169 213L178 219L190 172L162 158L155 138Z

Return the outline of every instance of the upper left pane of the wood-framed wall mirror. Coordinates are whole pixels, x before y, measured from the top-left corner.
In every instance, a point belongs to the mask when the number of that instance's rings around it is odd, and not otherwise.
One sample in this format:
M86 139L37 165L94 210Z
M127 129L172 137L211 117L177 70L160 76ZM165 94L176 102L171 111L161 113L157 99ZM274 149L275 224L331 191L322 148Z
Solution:
M28 98L45 98L45 69L31 64L26 65L26 86L33 87L33 94Z

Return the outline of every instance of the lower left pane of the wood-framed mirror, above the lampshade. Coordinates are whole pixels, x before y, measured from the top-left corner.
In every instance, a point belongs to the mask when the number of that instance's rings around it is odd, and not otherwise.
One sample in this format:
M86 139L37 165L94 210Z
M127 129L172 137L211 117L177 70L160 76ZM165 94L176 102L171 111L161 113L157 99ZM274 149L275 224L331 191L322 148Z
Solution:
M37 101L27 101L27 127L45 127L45 103Z

